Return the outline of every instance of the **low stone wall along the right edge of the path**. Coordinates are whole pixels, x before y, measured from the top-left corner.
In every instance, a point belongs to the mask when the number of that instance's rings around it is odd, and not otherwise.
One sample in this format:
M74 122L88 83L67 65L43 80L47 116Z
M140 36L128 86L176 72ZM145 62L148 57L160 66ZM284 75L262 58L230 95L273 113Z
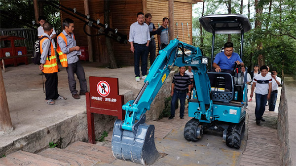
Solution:
M296 81L285 76L278 113L278 139L282 166L296 165Z

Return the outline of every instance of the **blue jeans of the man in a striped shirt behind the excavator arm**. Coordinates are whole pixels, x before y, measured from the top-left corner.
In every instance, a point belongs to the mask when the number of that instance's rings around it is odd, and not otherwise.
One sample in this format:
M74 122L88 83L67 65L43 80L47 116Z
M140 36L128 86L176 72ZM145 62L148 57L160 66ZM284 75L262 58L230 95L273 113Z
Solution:
M186 90L184 91L177 91L174 90L174 94L172 97L171 102L171 115L175 116L175 103L177 100L180 100L180 117L184 117L184 110L185 110L185 100L186 100Z

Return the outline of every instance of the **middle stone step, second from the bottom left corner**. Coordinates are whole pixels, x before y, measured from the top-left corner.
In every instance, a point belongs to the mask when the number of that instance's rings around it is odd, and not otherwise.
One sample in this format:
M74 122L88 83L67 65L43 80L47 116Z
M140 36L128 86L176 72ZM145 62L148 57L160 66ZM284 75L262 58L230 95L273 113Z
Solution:
M93 166L94 164L101 162L97 158L59 148L46 149L38 154L43 157L68 163L71 166Z

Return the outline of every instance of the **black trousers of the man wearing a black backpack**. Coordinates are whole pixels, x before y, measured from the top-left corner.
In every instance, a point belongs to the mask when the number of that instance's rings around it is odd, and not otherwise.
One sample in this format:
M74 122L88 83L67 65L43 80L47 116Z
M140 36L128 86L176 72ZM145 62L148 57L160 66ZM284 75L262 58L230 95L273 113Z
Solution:
M58 94L58 73L44 73L45 81L45 100L57 99Z

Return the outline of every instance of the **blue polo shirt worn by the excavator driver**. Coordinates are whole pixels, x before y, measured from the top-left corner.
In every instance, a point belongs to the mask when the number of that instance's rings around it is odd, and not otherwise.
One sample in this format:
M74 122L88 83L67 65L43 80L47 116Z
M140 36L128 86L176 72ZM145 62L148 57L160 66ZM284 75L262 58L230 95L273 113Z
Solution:
M218 53L215 57L214 63L220 66L224 70L232 70L235 65L235 61L243 62L239 55L235 52L232 53L232 56L228 59L224 52Z

